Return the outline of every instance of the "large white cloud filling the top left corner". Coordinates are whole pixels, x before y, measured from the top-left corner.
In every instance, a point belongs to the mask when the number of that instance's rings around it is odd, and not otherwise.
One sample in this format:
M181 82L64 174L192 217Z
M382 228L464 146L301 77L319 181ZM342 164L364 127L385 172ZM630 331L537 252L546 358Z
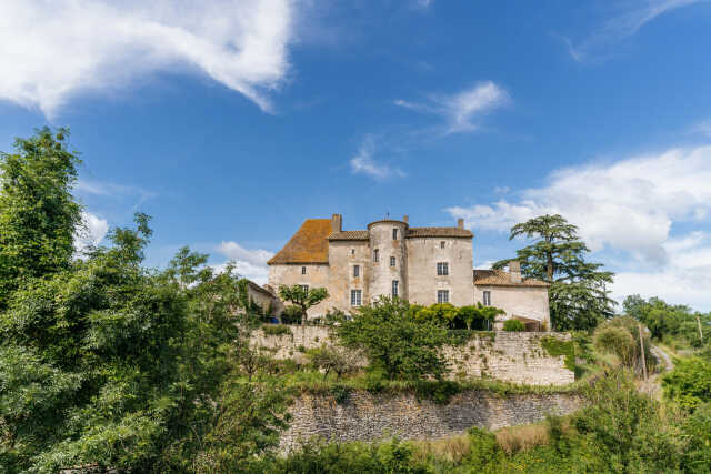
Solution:
M3 0L0 99L56 113L83 92L194 70L270 111L288 72L291 0Z

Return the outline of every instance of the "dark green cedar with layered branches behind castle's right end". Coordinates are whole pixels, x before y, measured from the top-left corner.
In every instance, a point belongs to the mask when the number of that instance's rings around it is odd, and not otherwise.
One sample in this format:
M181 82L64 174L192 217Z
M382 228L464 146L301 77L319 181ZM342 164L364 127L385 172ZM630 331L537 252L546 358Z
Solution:
M511 228L509 240L519 236L532 243L518 250L515 259L493 266L502 269L518 260L525 278L550 283L551 320L557 330L587 330L612 316L617 303L607 285L613 273L602 271L601 263L585 261L589 249L578 238L575 225L559 214L547 214Z

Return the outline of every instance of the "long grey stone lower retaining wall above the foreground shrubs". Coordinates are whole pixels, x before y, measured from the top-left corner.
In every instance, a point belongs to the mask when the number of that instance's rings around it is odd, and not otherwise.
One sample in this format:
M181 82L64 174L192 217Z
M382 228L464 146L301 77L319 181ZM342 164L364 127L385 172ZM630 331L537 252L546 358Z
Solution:
M471 426L497 430L530 424L548 414L563 415L580 407L578 395L462 392L447 404L418 400L414 394L352 392L339 404L331 395L303 393L290 407L292 421L280 442L289 452L313 436L329 441L375 441L398 435L404 440L438 438L464 433Z

